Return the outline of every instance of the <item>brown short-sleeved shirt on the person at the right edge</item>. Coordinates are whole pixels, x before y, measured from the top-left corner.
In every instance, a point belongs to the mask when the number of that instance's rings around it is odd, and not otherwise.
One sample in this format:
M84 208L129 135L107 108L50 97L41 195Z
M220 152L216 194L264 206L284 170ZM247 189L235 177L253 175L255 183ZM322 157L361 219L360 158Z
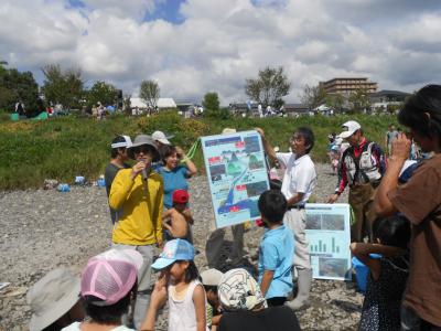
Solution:
M388 196L412 223L404 305L441 327L441 154L423 161L410 180Z

